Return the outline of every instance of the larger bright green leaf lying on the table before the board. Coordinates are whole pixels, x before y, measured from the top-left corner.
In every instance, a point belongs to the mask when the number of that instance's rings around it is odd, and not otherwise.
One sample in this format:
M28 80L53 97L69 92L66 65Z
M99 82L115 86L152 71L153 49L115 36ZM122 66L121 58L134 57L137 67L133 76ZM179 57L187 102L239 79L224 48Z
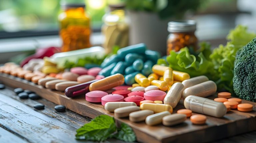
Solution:
M108 115L100 115L79 128L76 131L76 139L105 141L115 131L115 119Z

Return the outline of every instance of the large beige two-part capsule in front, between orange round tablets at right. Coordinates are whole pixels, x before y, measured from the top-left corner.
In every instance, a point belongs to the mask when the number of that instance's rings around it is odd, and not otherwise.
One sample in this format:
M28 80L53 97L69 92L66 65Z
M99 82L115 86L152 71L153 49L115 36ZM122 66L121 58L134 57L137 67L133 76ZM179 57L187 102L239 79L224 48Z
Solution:
M185 98L184 106L186 109L190 109L193 112L211 115L214 117L222 117L227 112L227 108L222 102L217 102L211 99L194 95L190 95Z

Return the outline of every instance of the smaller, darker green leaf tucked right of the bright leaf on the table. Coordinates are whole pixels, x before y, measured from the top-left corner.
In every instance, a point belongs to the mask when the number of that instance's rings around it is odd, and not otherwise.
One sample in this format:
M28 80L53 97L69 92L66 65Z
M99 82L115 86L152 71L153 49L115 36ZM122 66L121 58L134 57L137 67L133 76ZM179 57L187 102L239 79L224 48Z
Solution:
M134 142L136 141L136 135L133 132L132 128L125 123L121 124L121 128L117 129L117 133L113 135L114 138L126 141Z

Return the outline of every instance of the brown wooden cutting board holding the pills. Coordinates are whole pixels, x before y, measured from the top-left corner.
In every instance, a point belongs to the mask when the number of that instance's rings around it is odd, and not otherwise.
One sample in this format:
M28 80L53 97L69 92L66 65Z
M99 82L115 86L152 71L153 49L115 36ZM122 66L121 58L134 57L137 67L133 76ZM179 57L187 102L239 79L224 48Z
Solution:
M35 91L41 97L56 104L65 105L67 109L83 116L91 118L100 114L113 116L113 113L106 111L100 103L90 103L85 100L84 96L69 98L63 92L49 90L30 81L5 73L0 73L0 80L11 87L21 87ZM209 96L208 98L213 99L215 97ZM163 125L148 126L145 122L133 123L128 118L115 119L118 125L124 122L131 126L138 142L209 142L256 130L256 103L246 100L242 100L242 103L253 104L253 111L240 112L238 110L231 110L222 118L207 116L205 125L193 125L189 118L184 123L172 127ZM174 108L174 113L183 108L184 105L179 103Z

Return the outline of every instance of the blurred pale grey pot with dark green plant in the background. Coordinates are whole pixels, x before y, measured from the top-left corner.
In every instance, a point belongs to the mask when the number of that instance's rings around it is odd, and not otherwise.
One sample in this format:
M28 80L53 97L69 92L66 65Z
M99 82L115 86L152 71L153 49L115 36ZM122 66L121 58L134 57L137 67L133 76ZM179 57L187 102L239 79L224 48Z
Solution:
M129 44L145 43L166 54L167 23L196 11L201 0L126 0L130 18Z

